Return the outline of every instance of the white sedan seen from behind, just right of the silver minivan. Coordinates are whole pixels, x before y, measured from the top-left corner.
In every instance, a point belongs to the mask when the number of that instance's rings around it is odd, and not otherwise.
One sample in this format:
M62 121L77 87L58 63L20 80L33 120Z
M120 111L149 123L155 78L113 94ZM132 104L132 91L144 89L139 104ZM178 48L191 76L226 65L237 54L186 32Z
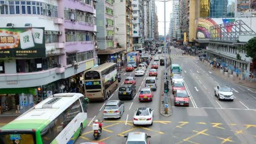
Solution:
M154 109L139 107L134 111L133 125L153 125Z

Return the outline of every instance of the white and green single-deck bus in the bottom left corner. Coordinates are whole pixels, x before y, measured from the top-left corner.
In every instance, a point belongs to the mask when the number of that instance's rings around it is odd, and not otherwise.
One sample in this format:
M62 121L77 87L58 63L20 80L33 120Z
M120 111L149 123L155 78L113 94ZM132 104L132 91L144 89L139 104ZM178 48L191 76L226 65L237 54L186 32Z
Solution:
M89 101L58 93L0 128L0 144L73 144L87 123Z

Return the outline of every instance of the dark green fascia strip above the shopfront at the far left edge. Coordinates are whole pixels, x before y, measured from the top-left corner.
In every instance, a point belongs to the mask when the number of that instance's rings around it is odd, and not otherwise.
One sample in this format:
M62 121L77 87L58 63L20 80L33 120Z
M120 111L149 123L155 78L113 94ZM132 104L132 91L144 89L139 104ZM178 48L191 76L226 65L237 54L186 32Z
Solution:
M35 94L36 88L0 88L0 94Z

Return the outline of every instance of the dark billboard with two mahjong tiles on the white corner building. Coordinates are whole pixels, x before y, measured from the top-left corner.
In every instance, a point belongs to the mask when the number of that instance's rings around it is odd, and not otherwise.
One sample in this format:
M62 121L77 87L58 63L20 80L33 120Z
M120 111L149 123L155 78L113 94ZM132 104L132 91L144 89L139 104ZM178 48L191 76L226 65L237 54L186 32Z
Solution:
M0 58L45 56L44 27L0 28Z

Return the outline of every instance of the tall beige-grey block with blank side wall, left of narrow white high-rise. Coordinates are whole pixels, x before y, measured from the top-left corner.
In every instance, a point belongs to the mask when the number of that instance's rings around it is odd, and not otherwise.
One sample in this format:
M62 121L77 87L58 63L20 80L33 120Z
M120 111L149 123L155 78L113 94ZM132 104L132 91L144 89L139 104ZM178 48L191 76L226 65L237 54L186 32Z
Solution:
M132 49L132 7L131 0L115 0L115 40L125 53Z

